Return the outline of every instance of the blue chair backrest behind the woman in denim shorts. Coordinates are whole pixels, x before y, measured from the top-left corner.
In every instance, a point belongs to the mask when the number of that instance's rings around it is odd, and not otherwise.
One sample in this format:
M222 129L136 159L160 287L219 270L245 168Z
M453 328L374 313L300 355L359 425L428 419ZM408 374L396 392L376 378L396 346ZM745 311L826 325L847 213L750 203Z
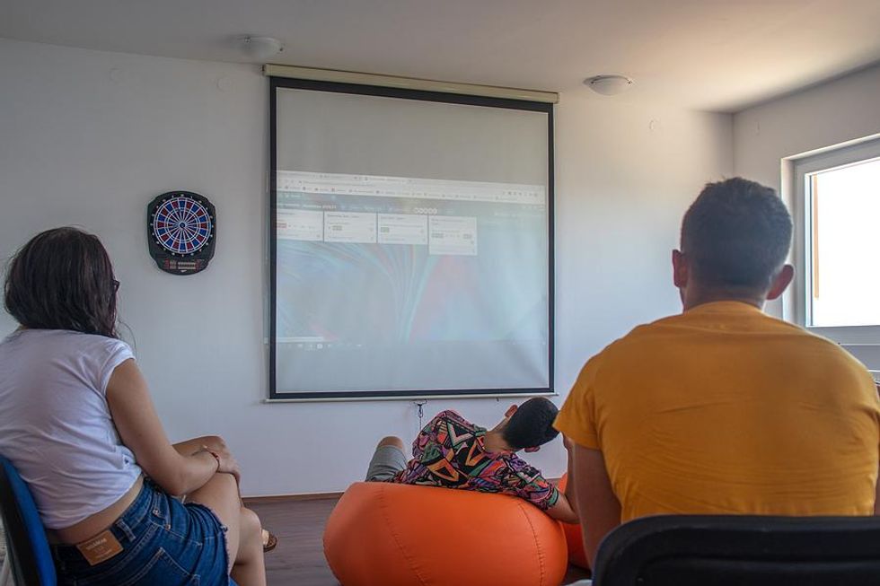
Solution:
M55 586L57 577L46 530L28 485L0 456L0 514L6 529L6 555L17 584Z

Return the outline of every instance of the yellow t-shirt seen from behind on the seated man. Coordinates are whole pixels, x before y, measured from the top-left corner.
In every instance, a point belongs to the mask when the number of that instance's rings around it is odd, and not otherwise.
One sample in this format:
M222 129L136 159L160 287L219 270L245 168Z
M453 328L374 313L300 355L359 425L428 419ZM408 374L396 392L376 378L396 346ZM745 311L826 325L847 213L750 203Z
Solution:
M867 515L878 404L871 375L837 345L751 305L713 302L596 354L555 425L603 452L621 521Z

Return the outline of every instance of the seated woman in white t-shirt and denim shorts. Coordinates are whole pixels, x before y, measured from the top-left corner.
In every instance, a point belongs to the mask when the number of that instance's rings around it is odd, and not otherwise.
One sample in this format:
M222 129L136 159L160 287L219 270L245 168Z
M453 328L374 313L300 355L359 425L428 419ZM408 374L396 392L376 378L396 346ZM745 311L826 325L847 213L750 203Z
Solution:
M117 337L118 288L101 241L75 228L35 236L6 276L21 327L0 343L0 453L31 488L59 582L265 584L238 463L216 436L168 441Z

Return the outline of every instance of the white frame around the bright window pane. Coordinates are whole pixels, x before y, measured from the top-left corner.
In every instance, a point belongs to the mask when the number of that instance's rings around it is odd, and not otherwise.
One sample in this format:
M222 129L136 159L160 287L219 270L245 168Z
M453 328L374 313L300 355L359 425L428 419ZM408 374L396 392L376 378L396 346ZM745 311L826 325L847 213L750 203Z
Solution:
M880 325L813 326L807 319L812 310L813 294L813 206L806 185L809 176L815 172L877 158L880 158L880 135L790 159L793 163L790 193L794 212L792 260L796 268L792 317L797 325L841 345L880 345Z

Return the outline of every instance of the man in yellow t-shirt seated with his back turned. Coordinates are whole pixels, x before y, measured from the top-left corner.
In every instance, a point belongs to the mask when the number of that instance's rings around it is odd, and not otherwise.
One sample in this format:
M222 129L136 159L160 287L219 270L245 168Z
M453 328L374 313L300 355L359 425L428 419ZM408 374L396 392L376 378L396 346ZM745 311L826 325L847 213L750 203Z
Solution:
M709 184L682 222L683 312L639 326L580 372L556 427L587 559L650 514L869 515L880 406L838 345L762 312L785 290L791 218L752 181Z

